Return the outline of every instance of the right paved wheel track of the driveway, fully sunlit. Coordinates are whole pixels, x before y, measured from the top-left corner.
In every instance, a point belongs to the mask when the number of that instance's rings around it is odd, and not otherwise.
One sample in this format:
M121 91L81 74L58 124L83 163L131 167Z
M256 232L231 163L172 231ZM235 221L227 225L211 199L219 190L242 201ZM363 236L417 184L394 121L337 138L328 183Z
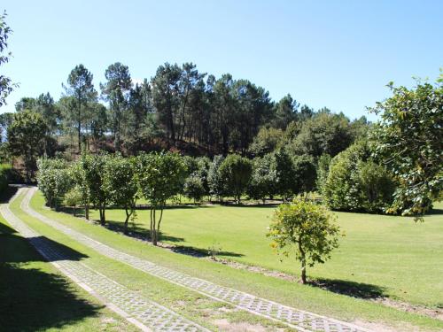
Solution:
M97 240L90 238L89 236L83 235L72 228L67 228L58 221L51 220L43 214L36 212L29 206L29 201L35 194L36 188L24 190L26 190L27 193L21 203L22 210L38 220L43 221L47 225L50 225L52 228L56 228L58 231L74 238L77 242L94 249L102 255L128 264L128 266L135 267L147 274L183 286L188 290L197 291L198 293L203 294L206 297L211 297L214 300L234 305L249 313L284 323L288 327L295 328L299 331L369 332L369 329L367 328L361 328L345 321L334 320L315 313L295 309L287 305L281 305L261 297L255 297L251 294L192 277L188 274L183 274L173 269L156 265L148 260L129 255L123 251L116 250L104 243L100 243Z

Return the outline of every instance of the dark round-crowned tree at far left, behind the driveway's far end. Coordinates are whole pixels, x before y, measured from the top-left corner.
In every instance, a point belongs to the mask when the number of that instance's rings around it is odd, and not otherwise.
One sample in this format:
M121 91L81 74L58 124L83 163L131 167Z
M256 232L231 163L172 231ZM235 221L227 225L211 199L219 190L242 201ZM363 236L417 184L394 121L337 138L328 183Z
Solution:
M48 127L41 114L31 111L14 114L8 126L8 148L12 156L22 157L27 181L34 177L36 158L43 154Z

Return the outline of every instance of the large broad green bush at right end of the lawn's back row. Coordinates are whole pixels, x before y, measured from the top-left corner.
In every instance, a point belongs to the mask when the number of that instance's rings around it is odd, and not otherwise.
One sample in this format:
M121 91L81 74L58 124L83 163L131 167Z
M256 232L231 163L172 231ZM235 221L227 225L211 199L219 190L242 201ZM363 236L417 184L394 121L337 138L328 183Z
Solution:
M355 143L330 162L323 198L334 210L385 212L395 188L392 175L370 158L367 143Z

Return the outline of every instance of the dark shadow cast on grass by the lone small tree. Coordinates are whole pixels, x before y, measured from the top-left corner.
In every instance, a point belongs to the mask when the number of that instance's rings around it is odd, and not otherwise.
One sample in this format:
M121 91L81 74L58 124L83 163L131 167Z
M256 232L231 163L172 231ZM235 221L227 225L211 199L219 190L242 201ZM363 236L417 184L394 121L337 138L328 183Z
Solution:
M374 299L385 297L385 288L362 282L350 282L338 279L315 279L309 284L333 293L357 297L362 299Z

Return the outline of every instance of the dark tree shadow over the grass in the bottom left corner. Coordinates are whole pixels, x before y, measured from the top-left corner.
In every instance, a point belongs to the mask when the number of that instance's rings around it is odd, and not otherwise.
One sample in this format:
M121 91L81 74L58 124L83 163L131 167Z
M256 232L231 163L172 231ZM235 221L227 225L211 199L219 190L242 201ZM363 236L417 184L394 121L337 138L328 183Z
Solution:
M64 277L46 273L40 265L29 266L43 258L25 238L4 223L0 223L0 231L1 330L58 329L97 315L101 306L80 297ZM66 251L65 246L43 236L40 240ZM73 250L66 254L72 259L84 257Z

